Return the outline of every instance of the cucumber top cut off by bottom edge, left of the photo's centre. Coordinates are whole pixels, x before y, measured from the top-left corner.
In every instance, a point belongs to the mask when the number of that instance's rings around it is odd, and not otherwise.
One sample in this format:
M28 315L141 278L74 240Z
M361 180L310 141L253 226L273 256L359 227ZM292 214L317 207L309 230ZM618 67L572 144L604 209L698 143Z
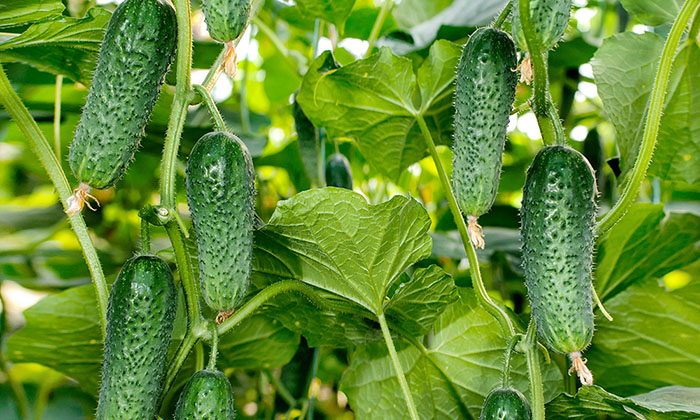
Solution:
M200 370L180 394L175 420L233 420L233 391L222 372Z

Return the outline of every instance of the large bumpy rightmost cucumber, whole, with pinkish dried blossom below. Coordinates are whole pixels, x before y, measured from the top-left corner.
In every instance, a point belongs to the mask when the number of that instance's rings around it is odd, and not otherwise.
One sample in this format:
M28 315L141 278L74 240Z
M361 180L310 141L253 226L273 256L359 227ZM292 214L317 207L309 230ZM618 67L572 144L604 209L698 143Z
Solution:
M593 337L596 194L593 169L569 147L542 149L528 169L520 211L525 281L537 331L558 353L581 351Z

